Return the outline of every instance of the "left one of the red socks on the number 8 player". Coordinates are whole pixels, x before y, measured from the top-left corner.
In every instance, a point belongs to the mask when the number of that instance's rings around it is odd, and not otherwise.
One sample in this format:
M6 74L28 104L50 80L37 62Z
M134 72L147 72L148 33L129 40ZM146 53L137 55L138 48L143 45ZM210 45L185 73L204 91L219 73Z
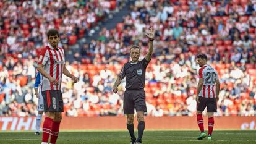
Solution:
M53 123L53 119L49 117L45 117L45 121L43 122L43 138L42 142L48 142L49 135L51 135L51 125Z

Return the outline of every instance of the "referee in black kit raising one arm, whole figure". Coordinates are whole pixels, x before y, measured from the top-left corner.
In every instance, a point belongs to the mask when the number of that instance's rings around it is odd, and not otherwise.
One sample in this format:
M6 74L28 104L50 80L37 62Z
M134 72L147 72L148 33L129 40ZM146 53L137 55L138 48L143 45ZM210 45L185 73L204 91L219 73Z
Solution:
M130 57L132 61L127 62L122 67L121 73L118 75L116 82L114 83L113 92L117 93L118 85L121 80L126 77L126 91L124 92L124 114L127 116L127 129L129 130L131 143L142 143L142 135L145 129L144 112L147 112L145 101L145 72L148 63L151 60L153 54L153 41L155 36L155 30L149 29L149 32L145 33L149 39L149 50L147 55L142 61L139 61L140 47L131 46ZM134 108L137 111L138 120L138 138L134 135Z

